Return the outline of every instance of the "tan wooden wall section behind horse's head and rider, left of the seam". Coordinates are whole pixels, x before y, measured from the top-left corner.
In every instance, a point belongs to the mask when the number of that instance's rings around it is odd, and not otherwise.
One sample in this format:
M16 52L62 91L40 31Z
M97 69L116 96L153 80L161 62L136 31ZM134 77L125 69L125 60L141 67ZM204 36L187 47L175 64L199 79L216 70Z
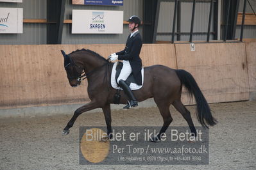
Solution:
M107 58L124 45L0 45L1 108L88 102L87 81L78 88L69 86L60 52L83 48ZM145 44L141 57L144 66L176 68L174 45Z

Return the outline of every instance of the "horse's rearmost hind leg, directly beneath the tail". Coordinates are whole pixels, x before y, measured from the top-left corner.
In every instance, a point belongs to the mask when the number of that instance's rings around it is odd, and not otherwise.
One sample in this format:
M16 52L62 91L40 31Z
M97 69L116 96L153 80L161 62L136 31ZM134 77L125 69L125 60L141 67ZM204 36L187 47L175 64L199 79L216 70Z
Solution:
M180 100L175 100L175 102L173 102L173 106L175 107L175 109L178 112L180 112L182 114L183 118L189 124L189 128L191 130L191 133L194 133L194 135L196 136L196 128L194 127L194 123L192 121L191 113L189 112L189 110L187 110L185 108L185 106L182 104L182 101L180 101Z

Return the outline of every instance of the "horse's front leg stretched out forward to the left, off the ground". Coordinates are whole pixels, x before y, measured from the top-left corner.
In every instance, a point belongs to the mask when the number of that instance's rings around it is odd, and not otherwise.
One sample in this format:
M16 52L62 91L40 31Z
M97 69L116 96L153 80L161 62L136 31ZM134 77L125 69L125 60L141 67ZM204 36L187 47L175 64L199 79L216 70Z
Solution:
M69 128L73 127L74 121L76 121L76 118L78 118L78 116L80 114L82 114L83 112L86 112L86 111L90 111L92 109L96 109L98 107L99 106L96 102L90 102L89 104L85 104L82 107L79 107L78 109L76 109L76 111L74 112L73 117L71 118L69 123L67 123L67 126L64 128L62 134L63 135L69 134Z

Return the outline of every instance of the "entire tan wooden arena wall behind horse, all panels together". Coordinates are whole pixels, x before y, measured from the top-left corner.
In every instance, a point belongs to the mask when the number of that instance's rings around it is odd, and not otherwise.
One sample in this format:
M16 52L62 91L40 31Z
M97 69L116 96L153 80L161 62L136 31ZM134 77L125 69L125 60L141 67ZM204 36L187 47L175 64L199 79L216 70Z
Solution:
M256 91L256 43L144 44L144 66L166 65L191 72L209 103L249 100ZM60 50L90 49L107 58L124 45L0 45L0 108L89 102L87 81L71 88ZM246 58L247 54L247 58ZM248 64L247 64L248 62ZM185 94L185 93L184 93ZM183 97L185 104L191 104Z

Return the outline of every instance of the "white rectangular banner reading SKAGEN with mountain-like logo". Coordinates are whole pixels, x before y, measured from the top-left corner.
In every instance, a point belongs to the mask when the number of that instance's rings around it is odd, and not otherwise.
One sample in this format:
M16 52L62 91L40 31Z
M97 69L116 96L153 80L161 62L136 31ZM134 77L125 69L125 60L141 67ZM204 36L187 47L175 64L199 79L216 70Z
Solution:
M73 34L123 34L123 11L73 10Z

